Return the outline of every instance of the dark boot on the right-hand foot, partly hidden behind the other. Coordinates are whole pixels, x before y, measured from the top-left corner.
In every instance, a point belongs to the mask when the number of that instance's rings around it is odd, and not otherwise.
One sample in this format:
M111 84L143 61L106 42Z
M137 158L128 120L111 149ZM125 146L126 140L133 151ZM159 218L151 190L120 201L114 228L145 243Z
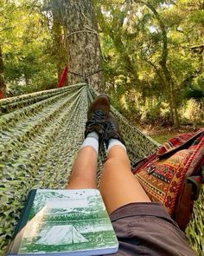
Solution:
M106 121L105 134L103 139L105 141L106 148L108 146L108 140L110 139L117 139L124 144L124 140L119 131L118 121L111 113L109 113Z

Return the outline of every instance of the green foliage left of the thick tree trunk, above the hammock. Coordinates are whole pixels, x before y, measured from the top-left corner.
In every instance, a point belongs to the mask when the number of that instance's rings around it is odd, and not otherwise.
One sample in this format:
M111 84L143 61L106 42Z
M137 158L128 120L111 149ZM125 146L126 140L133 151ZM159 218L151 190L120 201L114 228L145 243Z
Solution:
M57 62L47 17L38 1L2 1L0 40L8 96L51 89L57 83ZM61 63L63 69L64 63Z

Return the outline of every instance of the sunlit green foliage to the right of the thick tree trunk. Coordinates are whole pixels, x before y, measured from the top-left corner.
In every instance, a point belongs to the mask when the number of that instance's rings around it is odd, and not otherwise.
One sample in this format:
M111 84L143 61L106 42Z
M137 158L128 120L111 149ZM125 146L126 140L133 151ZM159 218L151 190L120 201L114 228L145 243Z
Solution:
M124 111L121 99L125 98L125 112L128 109L134 115L138 109L141 113L150 112L147 114L149 121L161 118L156 111L161 101L168 103L165 113L169 116L175 115L172 104L181 113L179 110L186 102L184 92L202 73L201 56L198 51L194 53L190 49L201 44L201 3L179 0L175 5L172 1L137 3L112 0L95 2L95 5L102 50L107 61L104 62L106 89L114 98L114 106ZM167 33L166 52L163 51L163 27ZM164 54L169 76L163 71L161 61ZM169 79L174 83L172 89L169 88ZM141 95L137 96L138 108L127 96L132 89L135 95ZM156 98L157 101L153 100ZM143 107L150 99L152 110Z

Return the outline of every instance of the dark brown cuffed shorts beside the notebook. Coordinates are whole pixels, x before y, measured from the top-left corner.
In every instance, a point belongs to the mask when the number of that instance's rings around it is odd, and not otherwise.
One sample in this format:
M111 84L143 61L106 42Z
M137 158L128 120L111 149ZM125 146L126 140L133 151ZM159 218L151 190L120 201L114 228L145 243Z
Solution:
M159 203L131 203L118 208L110 218L119 249L109 255L196 255Z

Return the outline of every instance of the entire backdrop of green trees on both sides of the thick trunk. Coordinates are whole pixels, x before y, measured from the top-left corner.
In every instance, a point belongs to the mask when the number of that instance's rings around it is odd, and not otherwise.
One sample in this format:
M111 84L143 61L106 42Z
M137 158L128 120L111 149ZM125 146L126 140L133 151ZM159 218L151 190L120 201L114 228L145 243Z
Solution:
M160 119L177 127L180 121L194 121L192 109L196 108L198 120L203 121L203 1L87 3L94 14L87 9L79 23L80 16L73 13L79 24L75 28L87 30L87 16L94 16L91 20L105 78L104 82L98 76L99 90L112 96L113 105L137 120ZM0 77L8 96L56 87L61 70L69 63L75 72L86 73L83 62L87 66L90 60L80 58L83 50L74 51L79 65L69 58L76 43L66 41L67 33L76 31L67 20L66 8L63 0L0 0ZM90 40L85 34L74 38L84 43Z

